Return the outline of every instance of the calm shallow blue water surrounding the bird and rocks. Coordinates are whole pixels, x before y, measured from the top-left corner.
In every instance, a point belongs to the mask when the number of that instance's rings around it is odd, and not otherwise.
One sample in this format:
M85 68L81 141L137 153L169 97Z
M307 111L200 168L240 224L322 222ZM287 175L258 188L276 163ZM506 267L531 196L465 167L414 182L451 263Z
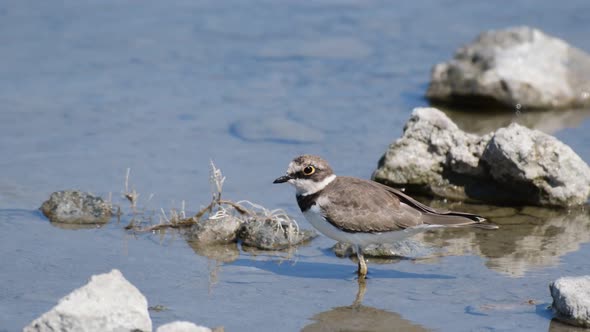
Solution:
M291 188L271 184L295 155L368 178L411 109L427 105L436 62L483 30L521 24L590 52L588 15L586 0L4 1L0 331L112 268L167 308L151 313L154 326L554 330L548 283L590 273L587 211L454 206L503 227L416 237L436 253L370 262L362 304L350 308L355 264L325 237L291 253L214 250L173 233L130 234L125 218L65 229L37 208L68 188L119 201L131 168L140 206L185 200L196 211L210 199L212 159L224 197L284 208L309 227ZM518 121L590 162L589 110L449 115L477 133Z

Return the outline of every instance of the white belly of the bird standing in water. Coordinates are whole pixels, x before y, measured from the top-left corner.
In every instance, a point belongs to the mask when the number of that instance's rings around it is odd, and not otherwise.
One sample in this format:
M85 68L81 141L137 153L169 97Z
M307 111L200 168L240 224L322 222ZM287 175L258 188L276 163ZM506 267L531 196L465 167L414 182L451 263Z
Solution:
M393 243L408 238L414 234L420 233L430 227L416 227L395 232L381 233L352 233L344 232L337 227L332 226L321 215L318 205L313 205L309 210L303 212L305 219L325 236L340 242L351 243L365 247L369 244Z

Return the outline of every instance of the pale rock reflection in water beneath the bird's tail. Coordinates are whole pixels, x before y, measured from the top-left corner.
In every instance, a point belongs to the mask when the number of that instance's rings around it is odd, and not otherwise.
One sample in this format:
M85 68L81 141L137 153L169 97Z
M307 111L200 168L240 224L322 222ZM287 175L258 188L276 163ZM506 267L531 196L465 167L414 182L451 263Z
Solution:
M486 266L507 276L522 277L531 269L559 264L560 257L590 242L590 212L586 208L494 207L466 203L434 207L478 213L500 226L493 232L447 229L414 237L427 245L444 248L446 255L477 254Z

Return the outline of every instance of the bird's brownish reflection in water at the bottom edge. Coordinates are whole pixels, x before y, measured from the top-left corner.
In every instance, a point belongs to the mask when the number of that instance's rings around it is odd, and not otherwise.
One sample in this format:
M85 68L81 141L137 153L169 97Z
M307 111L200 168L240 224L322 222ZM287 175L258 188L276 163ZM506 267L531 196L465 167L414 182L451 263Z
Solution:
M313 323L304 327L302 331L428 331L403 319L395 312L363 305L366 290L367 281L358 280L358 290L352 305L336 307L314 315L311 318Z

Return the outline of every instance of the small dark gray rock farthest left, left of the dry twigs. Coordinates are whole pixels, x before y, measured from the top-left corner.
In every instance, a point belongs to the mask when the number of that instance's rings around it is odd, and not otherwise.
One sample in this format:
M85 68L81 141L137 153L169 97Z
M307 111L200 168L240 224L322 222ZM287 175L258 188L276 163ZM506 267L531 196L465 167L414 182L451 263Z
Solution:
M102 198L77 190L58 191L41 205L52 222L68 224L104 224L112 216L111 205Z

